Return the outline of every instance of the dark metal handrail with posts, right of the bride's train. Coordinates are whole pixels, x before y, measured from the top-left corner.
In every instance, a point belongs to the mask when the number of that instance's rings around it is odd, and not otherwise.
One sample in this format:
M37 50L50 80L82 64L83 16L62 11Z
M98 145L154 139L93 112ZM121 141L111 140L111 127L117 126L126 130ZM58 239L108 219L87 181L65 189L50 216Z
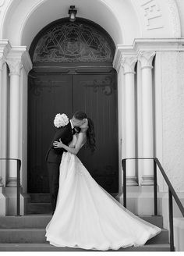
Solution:
M172 205L172 197L175 198L176 204L179 206L180 212L182 212L182 216L184 217L184 208L182 206L182 202L179 200L179 197L175 193L174 188L172 187L172 183L168 180L168 176L165 173L165 170L161 166L161 162L158 158L123 158L122 159L122 169L123 169L123 205L126 208L126 160L138 160L138 159L150 159L154 160L154 215L157 215L157 166L161 171L162 176L165 179L165 182L168 185L168 208L169 208L169 227L170 227L170 251L175 251L174 246L174 228L173 228L173 205Z

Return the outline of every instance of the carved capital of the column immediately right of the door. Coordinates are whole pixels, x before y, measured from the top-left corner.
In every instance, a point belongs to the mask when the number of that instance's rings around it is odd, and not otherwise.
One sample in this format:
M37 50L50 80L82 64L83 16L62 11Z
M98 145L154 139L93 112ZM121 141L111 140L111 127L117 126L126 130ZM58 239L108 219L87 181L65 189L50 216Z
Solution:
M121 62L121 66L124 69L124 75L126 75L127 73L133 73L135 74L134 68L137 62L137 58L135 55L122 55L122 62Z

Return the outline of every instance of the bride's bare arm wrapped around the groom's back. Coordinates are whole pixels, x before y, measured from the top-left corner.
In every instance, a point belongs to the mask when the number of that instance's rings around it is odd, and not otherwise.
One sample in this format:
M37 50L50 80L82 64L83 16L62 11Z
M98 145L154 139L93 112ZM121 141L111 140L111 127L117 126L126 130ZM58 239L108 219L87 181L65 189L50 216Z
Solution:
M79 133L75 148L70 148L69 146L66 146L65 144L62 143L61 140L59 140L59 142L55 141L53 145L54 145L54 148L64 148L66 151L69 151L70 153L76 155L80 151L80 147L83 144L83 139L84 139L84 133Z

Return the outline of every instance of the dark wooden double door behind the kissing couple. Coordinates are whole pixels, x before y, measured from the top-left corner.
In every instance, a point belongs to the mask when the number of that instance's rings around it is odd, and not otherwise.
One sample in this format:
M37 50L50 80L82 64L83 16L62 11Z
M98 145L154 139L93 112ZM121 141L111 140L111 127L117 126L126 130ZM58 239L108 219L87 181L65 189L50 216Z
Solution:
M94 121L97 150L83 147L79 158L110 193L119 188L118 107L115 72L61 74L31 72L28 83L28 193L48 193L45 155L55 134L56 113L76 110Z

